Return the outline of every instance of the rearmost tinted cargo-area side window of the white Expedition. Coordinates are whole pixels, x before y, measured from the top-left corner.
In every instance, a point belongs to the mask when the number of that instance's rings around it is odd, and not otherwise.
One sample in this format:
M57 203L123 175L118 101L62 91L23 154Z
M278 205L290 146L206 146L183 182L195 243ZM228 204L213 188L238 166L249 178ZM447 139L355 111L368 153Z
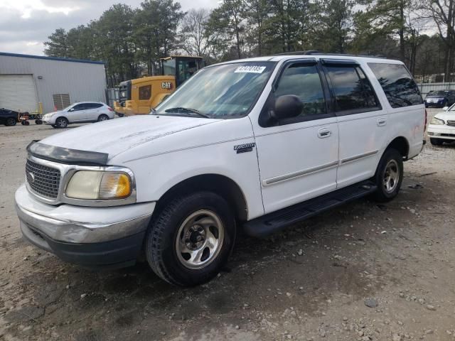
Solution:
M405 65L368 63L392 108L422 104L419 88Z

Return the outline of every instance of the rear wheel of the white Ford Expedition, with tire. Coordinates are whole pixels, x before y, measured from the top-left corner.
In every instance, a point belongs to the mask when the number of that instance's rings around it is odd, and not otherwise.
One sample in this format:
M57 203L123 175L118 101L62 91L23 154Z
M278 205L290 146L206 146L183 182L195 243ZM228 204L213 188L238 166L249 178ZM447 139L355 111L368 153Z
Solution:
M376 201L388 202L397 196L403 180L403 158L399 151L386 149L373 179L378 186L373 194Z

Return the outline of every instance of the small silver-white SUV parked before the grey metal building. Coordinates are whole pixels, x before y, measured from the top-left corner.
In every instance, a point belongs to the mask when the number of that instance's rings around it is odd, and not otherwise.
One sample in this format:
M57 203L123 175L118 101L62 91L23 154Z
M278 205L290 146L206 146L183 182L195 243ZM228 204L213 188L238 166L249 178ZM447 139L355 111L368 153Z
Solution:
M71 123L107 121L114 118L114 109L103 102L77 102L58 112L43 115L43 124L66 128Z

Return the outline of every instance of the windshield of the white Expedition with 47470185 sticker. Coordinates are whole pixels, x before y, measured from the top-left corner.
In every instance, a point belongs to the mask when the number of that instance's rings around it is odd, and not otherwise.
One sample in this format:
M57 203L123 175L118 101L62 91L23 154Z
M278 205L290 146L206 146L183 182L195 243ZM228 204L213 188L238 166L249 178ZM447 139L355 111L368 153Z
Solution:
M257 101L275 65L248 62L206 67L151 114L210 119L243 117Z

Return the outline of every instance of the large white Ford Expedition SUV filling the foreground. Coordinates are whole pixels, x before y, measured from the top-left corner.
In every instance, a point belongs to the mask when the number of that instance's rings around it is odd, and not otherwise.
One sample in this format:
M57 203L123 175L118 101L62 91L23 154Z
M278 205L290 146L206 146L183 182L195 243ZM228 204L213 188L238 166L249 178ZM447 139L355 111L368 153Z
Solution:
M192 286L239 229L264 236L364 195L392 200L426 114L405 65L274 55L205 67L149 115L28 146L23 236L64 261Z

